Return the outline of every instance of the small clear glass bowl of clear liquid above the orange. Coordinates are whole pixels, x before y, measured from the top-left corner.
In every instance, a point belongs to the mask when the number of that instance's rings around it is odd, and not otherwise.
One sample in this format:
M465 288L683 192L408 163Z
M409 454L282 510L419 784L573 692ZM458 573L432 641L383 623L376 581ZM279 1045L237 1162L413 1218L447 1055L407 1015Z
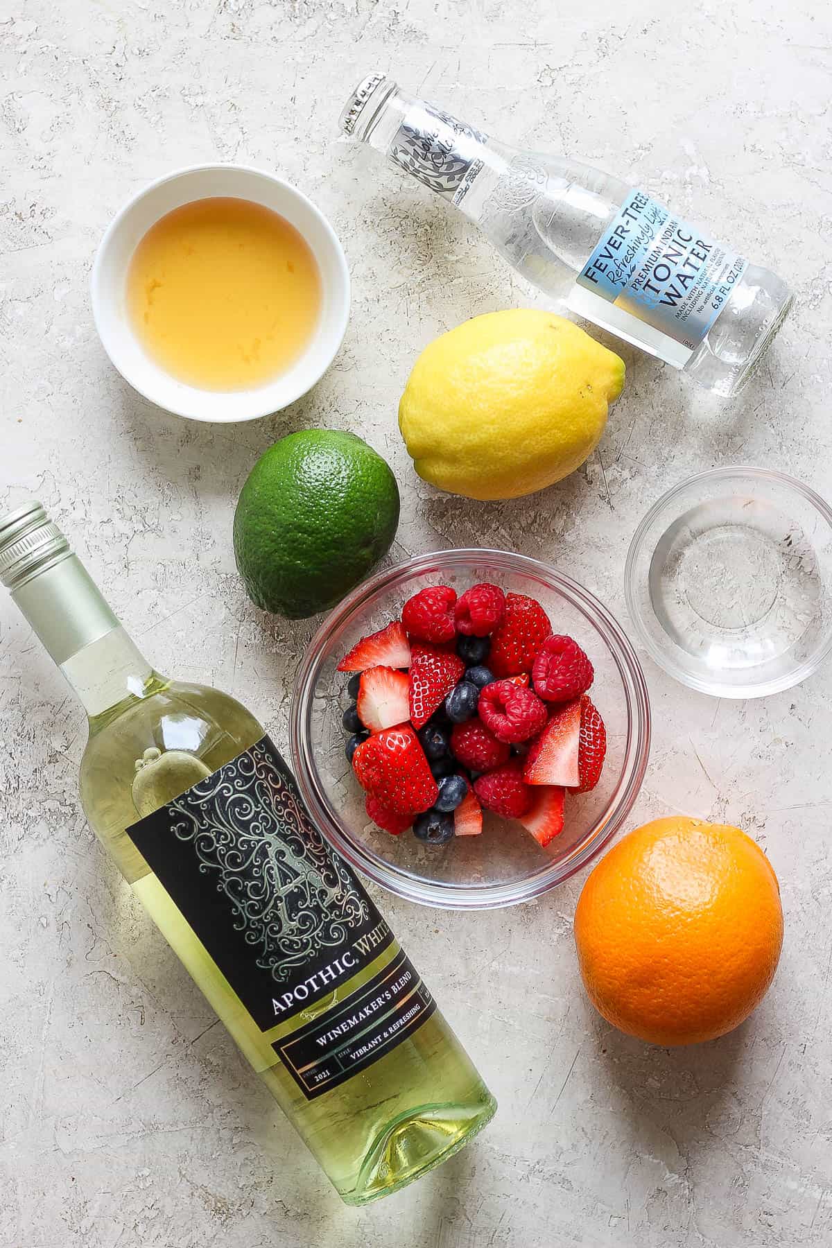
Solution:
M800 684L832 649L832 509L793 477L716 468L669 490L627 554L627 608L676 680L717 698Z

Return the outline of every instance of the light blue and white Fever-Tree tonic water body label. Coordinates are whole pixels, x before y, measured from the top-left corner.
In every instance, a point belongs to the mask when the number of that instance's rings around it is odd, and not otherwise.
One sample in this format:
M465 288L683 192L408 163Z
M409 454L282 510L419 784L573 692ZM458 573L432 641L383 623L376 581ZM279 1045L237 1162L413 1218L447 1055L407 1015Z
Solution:
M742 256L634 190L578 275L569 305L684 368L746 265Z

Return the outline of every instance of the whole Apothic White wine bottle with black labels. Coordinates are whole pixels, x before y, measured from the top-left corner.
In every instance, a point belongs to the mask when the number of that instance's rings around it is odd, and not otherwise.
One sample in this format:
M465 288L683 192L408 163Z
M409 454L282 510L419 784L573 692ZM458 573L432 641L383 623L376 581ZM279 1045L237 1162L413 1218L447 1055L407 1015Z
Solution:
M496 1103L253 715L153 671L40 503L0 579L86 708L92 829L342 1199L467 1143Z

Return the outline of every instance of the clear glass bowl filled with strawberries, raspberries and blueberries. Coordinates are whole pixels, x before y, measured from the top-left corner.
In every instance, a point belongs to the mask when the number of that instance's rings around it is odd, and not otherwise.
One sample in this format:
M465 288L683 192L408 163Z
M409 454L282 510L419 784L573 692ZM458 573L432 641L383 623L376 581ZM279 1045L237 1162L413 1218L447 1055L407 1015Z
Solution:
M423 905L491 909L555 887L617 831L650 705L586 589L504 550L440 550L324 620L289 734L309 812L357 870Z

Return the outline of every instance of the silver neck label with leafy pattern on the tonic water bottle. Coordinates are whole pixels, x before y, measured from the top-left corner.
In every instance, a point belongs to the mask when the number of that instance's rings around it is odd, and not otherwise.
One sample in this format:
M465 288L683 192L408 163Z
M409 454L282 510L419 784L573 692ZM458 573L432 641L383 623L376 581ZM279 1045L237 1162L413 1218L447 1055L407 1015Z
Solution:
M479 172L474 166L481 167L478 149L486 137L442 109L419 102L408 110L390 144L389 156L432 191L450 198L455 196L459 202L472 176Z

